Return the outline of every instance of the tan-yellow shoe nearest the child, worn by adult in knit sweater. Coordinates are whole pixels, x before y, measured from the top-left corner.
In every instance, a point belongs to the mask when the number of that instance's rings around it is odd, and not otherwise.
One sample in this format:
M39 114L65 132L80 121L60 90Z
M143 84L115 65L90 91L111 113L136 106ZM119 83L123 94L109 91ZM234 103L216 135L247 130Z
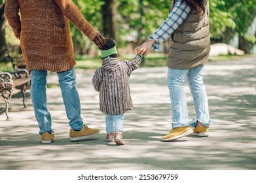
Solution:
M70 129L69 139L70 141L83 141L95 137L99 133L99 129L89 128L88 126L84 125L84 127L80 131Z

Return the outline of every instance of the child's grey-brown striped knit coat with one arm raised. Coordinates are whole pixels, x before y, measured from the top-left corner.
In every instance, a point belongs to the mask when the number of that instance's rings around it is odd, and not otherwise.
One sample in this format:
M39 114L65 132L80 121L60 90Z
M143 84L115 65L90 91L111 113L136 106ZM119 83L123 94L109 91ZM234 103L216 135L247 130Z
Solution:
M97 69L92 84L100 92L100 111L108 115L124 114L132 110L129 78L132 71L139 67L141 56L131 61L118 61L117 58L105 58L102 67Z

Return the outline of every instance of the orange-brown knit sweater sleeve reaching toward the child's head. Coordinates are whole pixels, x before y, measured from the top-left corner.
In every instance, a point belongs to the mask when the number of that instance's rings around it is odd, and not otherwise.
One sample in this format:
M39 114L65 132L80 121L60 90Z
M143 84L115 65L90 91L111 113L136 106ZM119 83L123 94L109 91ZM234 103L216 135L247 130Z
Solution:
M79 8L71 0L54 0L63 14L91 41L100 33L82 16Z

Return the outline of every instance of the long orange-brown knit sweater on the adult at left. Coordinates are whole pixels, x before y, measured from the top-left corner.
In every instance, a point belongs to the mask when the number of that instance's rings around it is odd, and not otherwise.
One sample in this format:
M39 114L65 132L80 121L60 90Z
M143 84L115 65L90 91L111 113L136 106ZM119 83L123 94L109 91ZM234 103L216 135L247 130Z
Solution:
M66 71L76 64L69 20L91 41L99 34L71 0L7 0L5 16L29 71Z

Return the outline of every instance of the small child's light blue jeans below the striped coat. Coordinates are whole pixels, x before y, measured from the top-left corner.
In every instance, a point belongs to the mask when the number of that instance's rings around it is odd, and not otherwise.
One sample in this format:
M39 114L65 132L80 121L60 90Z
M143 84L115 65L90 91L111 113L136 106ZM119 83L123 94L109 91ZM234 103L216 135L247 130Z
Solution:
M106 122L106 131L107 133L112 133L114 131L122 131L123 130L123 122L124 114L119 115L107 115L105 116Z

